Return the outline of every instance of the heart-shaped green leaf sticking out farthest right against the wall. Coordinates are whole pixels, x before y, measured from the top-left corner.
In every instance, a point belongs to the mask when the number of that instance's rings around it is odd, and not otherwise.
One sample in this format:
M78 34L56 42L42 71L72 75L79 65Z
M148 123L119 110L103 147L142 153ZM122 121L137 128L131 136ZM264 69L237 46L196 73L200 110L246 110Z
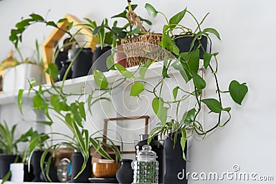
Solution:
M235 103L242 105L242 100L246 93L248 92L248 87L245 83L240 84L238 81L231 81L229 85L230 96Z

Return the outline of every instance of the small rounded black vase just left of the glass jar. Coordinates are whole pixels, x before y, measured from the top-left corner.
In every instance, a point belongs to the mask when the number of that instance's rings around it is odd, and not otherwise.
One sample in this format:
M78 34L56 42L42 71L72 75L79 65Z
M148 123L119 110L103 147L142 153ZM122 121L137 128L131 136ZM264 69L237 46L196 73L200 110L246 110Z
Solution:
M116 172L116 178L119 183L132 183L133 181L133 170L131 167L131 159L122 159L121 167Z

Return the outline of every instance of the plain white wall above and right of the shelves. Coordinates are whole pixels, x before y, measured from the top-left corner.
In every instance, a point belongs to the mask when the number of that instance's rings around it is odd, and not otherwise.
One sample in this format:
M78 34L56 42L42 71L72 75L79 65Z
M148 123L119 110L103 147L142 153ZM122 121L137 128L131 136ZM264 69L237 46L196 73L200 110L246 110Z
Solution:
M137 13L148 18L144 11L147 1L139 3ZM219 79L221 89L227 90L231 79L246 82L249 93L243 106L235 105L225 99L225 105L233 107L233 117L223 130L210 134L204 141L192 139L188 145L189 172L227 172L238 164L241 172L256 172L259 175L270 175L276 179L275 170L275 105L276 90L274 70L276 63L274 53L274 31L276 29L276 1L266 0L165 0L150 1L157 10L170 17L184 7L203 17L210 12L203 26L217 28L222 41L215 41L214 51L219 52ZM35 0L3 0L0 1L0 60L8 57L12 44L8 41L10 29L20 17L31 12L48 14L49 19L57 20L66 13L75 14L79 18L89 17L98 22L103 17L121 12L126 1L35 1ZM152 30L161 32L164 19L155 19ZM157 21L159 20L159 21ZM22 48L32 48L34 39L47 37L52 30L43 25L35 25L23 35ZM207 74L207 78L210 74ZM213 90L212 87L208 90ZM207 92L208 95L208 92ZM1 107L1 119L10 114ZM8 108L8 106L6 107ZM206 124L213 119L206 119ZM223 181L225 183L227 180ZM193 181L189 183L219 183L219 181ZM244 181L236 181L244 183ZM255 183L261 183L255 181Z

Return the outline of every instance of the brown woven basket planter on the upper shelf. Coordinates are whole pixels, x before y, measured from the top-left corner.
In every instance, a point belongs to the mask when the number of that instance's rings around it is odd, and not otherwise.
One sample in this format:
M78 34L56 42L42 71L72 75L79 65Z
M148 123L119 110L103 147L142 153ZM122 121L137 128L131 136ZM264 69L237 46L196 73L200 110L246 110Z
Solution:
M122 39L121 44L126 54L128 67L146 63L148 59L151 61L161 61L164 54L160 52L159 42L162 34L146 33L130 39Z

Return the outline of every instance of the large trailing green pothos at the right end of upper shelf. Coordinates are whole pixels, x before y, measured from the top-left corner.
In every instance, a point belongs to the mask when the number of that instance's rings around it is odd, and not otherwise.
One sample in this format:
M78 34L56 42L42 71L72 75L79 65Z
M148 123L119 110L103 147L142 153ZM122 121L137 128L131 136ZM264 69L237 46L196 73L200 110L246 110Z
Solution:
M146 3L145 8L148 13L152 15L152 17L156 17L157 14L164 15L163 13L155 10L155 8L153 8L153 6L148 3ZM185 25L180 24L180 21L184 19L184 16L186 14L189 14L195 20L195 31L186 27ZM206 14L204 19L206 19L207 15L208 14ZM149 92L150 94L154 94L154 98L152 99L152 109L160 122L157 123L157 126L151 130L150 139L148 139L148 141L150 142L152 138L155 137L157 134L168 135L169 133L172 133L172 139L174 140L174 143L176 143L177 133L181 133L181 147L184 151L186 140L193 134L198 134L204 137L206 136L206 134L212 132L218 127L224 127L230 121L231 108L224 107L221 95L230 94L230 97L235 103L242 105L244 96L248 92L248 87L246 86L246 83L239 83L238 81L233 80L230 82L228 90L223 91L219 88L219 80L217 76L217 55L219 53L212 52L212 37L210 36L210 34L214 34L215 37L219 40L220 36L219 32L217 32L217 30L215 30L214 28L205 28L204 30L201 29L201 24L203 23L204 19L202 19L202 21L200 22L197 21L192 12L188 11L187 8L185 8L181 12L178 12L170 19L168 19L165 15L164 17L167 24L164 25L163 37L159 45L172 54L166 54L167 52L164 52L165 57L163 62L163 70L161 73L161 79L159 79L157 85L155 85L153 88L146 87L148 81L144 79L144 76L149 66L152 64L152 61L150 61L150 59L148 59L146 63L140 64L137 70L135 70L134 72L130 72L123 66L114 63L112 55L107 59L107 66L110 70L118 70L121 73L122 77L120 78L120 80L124 81L126 79L132 79L133 84L131 86L130 96L139 97L141 92ZM189 52L179 53L179 48L175 44L175 34L173 32L179 29L185 33L184 37L193 37L193 42L190 45ZM201 45L202 36L208 37L208 41L210 42L209 50L204 50L203 46ZM198 48L195 48L195 50L193 50L195 41L199 42L199 46ZM199 67L199 49L204 51L204 64L202 68ZM151 50L148 52L156 51ZM211 62L211 59L214 59L214 62ZM166 100L164 98L164 92L162 93L164 82L166 81L166 79L170 78L170 76L168 75L168 71L170 70L170 68L174 68L175 70L179 71L179 73L181 74L180 80L183 80L185 83L190 83L190 85L192 85L191 91L181 88L180 85L176 85L175 88L171 90L171 94L173 96L173 99L171 101ZM216 86L216 90L214 90L213 92L217 95L216 99L204 98L203 94L207 84L204 80L204 75L200 74L201 70L205 70L205 72L211 72L213 74ZM139 76L137 76L137 74ZM108 83L108 80L103 73L99 71L94 72L94 78L95 83L97 83L99 88L101 88L102 90L112 90L111 88L108 88L108 84L111 83ZM112 83L115 82L113 81ZM181 112L179 110L179 107L181 106L181 104L188 103L187 99L190 98L195 99L195 104L186 112ZM215 125L213 125L213 127L208 130L204 129L202 122L199 120L200 112L204 112L204 105L207 106L210 114L217 114L217 123L215 123ZM176 112L175 117L169 116L168 110ZM222 122L222 116L228 116L227 118L224 118L226 119L226 121ZM185 154L183 154L183 156L184 159L186 159Z

